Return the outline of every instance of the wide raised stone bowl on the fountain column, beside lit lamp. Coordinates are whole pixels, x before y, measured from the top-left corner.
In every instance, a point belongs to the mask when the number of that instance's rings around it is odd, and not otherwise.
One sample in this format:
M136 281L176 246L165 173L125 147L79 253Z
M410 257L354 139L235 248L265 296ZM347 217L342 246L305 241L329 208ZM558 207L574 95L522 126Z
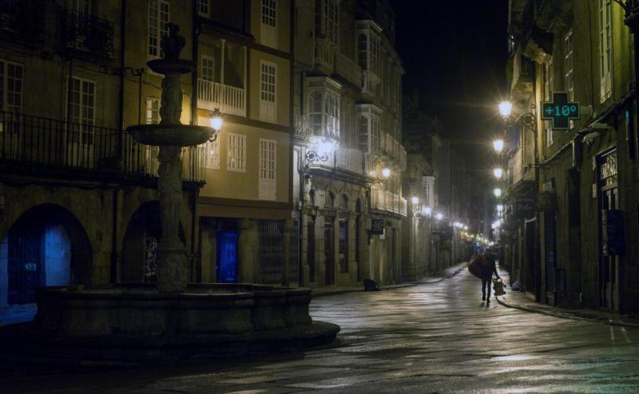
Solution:
M213 136L213 129L194 125L135 125L127 128L133 138L151 146L195 146Z

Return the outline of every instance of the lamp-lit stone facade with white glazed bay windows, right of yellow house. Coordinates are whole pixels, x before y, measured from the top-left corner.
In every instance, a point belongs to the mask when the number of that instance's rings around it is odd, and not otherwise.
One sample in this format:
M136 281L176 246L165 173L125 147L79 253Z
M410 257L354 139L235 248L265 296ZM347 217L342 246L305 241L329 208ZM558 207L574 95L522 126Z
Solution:
M295 15L293 201L302 284L399 282L404 71L392 9L300 0Z

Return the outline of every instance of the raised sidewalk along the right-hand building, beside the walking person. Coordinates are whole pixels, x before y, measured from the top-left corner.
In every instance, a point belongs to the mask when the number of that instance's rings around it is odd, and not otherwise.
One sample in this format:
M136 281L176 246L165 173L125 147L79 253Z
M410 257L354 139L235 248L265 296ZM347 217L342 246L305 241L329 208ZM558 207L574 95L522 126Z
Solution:
M502 275L501 272L500 275ZM506 280L508 275L504 273L502 277L504 278L504 283L508 283L508 281ZM599 322L602 324L608 324L610 326L639 328L639 319L636 317L629 317L596 309L573 309L554 307L552 305L545 305L532 301L528 299L526 294L524 294L523 292L512 291L510 287L505 289L505 291L506 294L504 296L499 296L496 298L498 303L507 308L515 308L519 310L525 310L527 312L560 317L561 319L583 320L590 322Z

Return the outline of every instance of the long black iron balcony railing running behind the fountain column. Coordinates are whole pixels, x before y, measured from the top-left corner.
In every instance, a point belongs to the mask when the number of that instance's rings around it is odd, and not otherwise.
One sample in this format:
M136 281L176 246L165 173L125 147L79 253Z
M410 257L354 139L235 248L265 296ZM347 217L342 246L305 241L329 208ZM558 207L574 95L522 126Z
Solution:
M0 111L0 163L157 176L157 147L114 128ZM203 152L183 149L183 179L203 181Z

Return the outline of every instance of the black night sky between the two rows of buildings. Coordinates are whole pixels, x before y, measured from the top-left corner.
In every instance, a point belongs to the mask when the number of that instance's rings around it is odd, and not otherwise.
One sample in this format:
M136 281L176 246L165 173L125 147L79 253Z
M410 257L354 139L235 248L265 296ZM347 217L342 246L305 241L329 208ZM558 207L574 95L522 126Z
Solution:
M507 0L391 0L404 94L466 151L488 156L505 81Z

